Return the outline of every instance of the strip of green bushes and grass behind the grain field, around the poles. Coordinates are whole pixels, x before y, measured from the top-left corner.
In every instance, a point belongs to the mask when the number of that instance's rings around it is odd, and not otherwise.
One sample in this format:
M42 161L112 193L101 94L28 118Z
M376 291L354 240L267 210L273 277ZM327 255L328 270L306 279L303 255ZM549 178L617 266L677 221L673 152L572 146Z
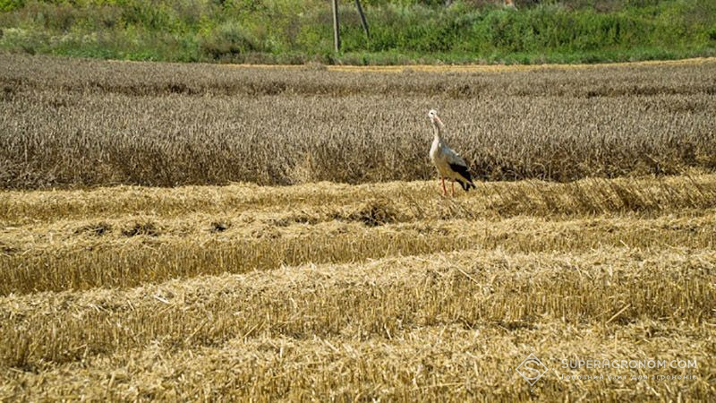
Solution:
M364 0L341 9L332 52L320 0L0 0L0 49L130 60L302 64L590 63L712 56L702 0ZM501 2L497 2L500 3Z

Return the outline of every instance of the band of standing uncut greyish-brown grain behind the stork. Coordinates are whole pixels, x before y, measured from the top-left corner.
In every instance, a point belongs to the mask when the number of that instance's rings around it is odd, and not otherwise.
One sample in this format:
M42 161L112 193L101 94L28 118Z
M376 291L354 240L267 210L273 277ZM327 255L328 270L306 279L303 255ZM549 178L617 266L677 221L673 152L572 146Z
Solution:
M4 188L427 179L430 107L482 179L716 167L713 61L410 74L0 64Z

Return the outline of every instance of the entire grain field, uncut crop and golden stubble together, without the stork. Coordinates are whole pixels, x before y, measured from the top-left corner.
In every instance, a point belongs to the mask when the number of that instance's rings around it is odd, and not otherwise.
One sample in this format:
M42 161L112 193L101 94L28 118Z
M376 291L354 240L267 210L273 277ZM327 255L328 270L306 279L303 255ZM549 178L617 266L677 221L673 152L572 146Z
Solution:
M711 61L0 63L2 400L716 399Z

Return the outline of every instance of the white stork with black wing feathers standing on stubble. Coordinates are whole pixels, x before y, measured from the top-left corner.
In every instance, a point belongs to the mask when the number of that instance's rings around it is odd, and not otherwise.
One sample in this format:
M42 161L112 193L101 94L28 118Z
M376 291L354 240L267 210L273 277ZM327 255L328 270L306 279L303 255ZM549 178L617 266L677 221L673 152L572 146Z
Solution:
M430 160L435 167L438 168L440 180L442 181L442 191L447 196L447 189L445 188L445 178L452 179L452 195L455 196L455 181L459 182L465 192L469 191L473 184L473 178L470 176L470 170L465 164L465 159L460 157L460 154L456 153L455 150L447 147L447 144L442 138L442 130L445 127L438 116L438 111L430 109L428 112L430 122L432 122L432 128L435 133L435 140L432 141L432 147L430 147Z

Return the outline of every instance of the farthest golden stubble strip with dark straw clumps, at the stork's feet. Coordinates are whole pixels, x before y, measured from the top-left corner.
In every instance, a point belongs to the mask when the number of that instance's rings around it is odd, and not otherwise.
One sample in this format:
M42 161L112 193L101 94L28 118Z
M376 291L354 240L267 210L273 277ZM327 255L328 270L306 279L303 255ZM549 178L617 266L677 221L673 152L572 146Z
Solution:
M15 227L0 233L0 294L135 287L202 274L472 248L713 246L714 176L628 183L484 184L456 199L439 196L433 183L304 185L278 188L275 197L268 188L252 186L130 188L120 198L109 197L121 193L111 189L23 199L6 194L3 219ZM201 195L216 201L206 211ZM113 209L113 201L126 207ZM48 217L53 211L60 219Z

